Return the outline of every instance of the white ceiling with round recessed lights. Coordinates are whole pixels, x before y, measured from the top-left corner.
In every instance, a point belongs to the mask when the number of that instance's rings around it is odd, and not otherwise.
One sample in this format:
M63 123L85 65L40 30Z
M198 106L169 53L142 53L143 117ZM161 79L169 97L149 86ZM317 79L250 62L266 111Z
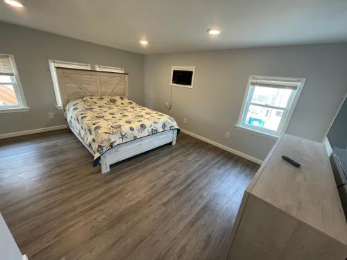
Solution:
M0 20L137 53L347 42L347 0L22 0ZM220 28L217 37L208 28ZM144 47L139 40L146 38Z

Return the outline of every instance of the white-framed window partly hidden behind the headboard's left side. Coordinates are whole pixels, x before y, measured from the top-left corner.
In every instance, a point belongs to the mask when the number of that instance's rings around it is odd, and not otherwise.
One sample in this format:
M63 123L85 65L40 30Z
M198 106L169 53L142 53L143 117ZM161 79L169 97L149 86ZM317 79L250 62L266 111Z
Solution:
M90 64L77 63L77 62L63 62L60 60L49 60L49 69L53 81L54 93L56 94L57 107L62 108L62 98L60 97L58 79L56 74L56 67L69 68L69 69L86 69L90 70Z

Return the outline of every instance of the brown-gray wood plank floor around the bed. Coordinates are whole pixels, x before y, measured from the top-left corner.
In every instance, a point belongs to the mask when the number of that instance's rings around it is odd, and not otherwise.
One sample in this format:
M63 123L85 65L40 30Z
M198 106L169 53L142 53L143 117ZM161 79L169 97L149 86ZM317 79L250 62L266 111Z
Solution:
M0 211L35 259L226 259L259 166L180 133L101 174L68 130L0 140Z

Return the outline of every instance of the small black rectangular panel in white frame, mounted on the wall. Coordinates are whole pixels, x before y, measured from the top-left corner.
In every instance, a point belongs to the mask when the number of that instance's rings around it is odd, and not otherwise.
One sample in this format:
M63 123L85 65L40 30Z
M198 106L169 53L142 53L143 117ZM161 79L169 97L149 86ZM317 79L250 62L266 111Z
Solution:
M173 66L170 85L192 88L194 85L195 67Z

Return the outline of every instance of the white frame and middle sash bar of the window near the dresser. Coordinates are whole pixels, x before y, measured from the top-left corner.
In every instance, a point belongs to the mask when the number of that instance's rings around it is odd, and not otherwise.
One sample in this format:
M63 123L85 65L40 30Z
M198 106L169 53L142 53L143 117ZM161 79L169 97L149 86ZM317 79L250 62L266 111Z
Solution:
M289 82L290 81L298 82L298 87L296 88L296 90L291 92L291 96L289 97L287 106L285 108L281 108L281 110L283 111L283 114L282 114L282 119L280 121L280 125L278 125L277 131L261 128L256 125L248 125L245 123L249 106L251 105L251 98L253 96L253 92L255 89L255 87L252 87L251 85L252 80L269 80L269 81L283 80L283 81L289 81ZM288 78L288 77L257 76L257 75L249 76L246 92L244 94L244 100L242 102L242 108L239 113L239 119L235 127L238 128L239 130L246 130L247 132L253 132L257 135L262 135L265 137L270 137L272 139L277 139L288 128L289 122L291 120L291 116L294 113L295 107L298 103L298 99L301 95L305 82L306 82L306 78ZM264 106L264 105L259 105L259 106ZM266 105L264 107L266 107ZM280 107L269 106L269 108L278 109Z

